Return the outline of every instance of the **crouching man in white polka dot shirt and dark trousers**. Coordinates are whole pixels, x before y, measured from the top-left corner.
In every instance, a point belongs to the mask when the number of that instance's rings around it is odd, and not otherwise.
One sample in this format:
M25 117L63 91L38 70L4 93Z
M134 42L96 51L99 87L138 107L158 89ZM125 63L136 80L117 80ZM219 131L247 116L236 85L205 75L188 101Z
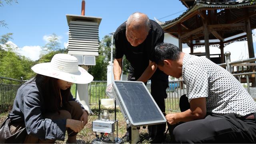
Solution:
M232 74L172 44L156 46L155 62L187 86L181 112L166 115L172 142L256 143L256 102Z

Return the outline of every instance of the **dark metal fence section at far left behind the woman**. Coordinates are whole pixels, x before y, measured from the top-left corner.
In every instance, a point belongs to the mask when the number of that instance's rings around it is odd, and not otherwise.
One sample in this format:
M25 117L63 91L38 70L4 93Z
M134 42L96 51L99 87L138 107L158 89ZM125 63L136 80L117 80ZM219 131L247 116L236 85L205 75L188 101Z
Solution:
M20 85L24 82L12 78L0 77L0 113L12 108L14 98Z

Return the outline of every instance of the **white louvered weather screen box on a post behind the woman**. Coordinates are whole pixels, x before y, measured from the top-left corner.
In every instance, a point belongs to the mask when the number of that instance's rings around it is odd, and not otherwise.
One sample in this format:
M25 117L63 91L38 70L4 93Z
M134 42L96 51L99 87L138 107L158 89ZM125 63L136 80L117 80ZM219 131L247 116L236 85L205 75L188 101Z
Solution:
M69 26L68 54L74 56L84 56L84 59L87 56L98 56L98 31L101 18L77 15L66 16ZM84 65L95 65L95 62L92 62L92 64L90 63Z

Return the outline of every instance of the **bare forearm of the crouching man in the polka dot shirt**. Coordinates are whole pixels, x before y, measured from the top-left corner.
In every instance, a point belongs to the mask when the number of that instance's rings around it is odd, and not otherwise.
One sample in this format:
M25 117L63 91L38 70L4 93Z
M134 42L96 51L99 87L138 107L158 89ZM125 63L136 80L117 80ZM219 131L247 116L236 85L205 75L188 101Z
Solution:
M190 101L190 109L184 112L167 114L166 120L169 124L177 122L189 122L192 120L203 119L206 116L206 98L194 98Z

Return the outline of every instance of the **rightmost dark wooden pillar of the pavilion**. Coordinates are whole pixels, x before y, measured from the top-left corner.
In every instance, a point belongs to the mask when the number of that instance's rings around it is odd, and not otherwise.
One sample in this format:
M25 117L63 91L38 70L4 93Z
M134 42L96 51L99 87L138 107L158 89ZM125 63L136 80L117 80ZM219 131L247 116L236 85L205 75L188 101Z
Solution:
M248 43L248 52L249 52L249 58L254 58L254 49L253 49L253 42L252 42L252 30L250 25L250 18L247 17L245 20L246 24L246 36L247 36L247 43Z

